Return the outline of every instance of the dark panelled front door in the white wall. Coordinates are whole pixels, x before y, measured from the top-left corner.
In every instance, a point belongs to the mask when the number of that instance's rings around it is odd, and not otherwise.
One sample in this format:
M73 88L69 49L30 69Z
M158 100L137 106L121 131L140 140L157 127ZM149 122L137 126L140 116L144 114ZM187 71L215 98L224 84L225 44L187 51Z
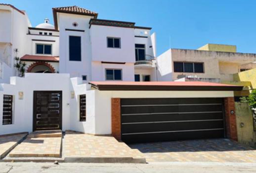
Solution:
M61 130L60 91L34 92L33 130Z

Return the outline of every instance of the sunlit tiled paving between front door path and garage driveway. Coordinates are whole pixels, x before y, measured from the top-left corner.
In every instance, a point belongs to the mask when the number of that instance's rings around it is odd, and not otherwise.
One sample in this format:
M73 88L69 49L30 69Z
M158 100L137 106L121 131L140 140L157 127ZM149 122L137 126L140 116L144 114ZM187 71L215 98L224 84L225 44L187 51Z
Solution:
M144 159L137 149L116 141L113 136L92 136L67 131L63 143L64 158L133 158Z

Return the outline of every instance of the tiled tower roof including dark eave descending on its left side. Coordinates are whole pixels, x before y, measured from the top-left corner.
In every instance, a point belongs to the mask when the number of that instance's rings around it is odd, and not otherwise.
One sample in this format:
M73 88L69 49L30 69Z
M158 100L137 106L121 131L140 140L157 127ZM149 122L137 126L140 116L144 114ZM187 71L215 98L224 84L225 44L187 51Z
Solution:
M53 8L53 13L54 13L54 25L55 25L55 29L56 29L56 30L58 30L57 12L93 16L94 19L97 19L97 17L98 17L98 13L92 12L92 11L90 11L90 10L88 10L88 9L83 9L83 8L81 8L81 7L79 7L79 6L63 6L63 7L56 7L56 8Z

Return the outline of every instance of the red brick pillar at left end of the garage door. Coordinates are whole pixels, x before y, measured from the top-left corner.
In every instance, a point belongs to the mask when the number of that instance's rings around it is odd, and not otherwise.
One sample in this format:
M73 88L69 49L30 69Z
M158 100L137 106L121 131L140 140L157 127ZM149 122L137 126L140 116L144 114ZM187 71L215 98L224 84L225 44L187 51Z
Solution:
M121 99L111 99L111 129L112 136L121 140Z

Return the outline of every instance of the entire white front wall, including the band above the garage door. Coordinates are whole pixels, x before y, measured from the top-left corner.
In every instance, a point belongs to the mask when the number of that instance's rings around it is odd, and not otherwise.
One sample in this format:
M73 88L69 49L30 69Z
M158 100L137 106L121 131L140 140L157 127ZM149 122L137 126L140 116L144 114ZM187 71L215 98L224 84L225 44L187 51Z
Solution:
M99 91L69 74L25 74L0 85L0 135L33 131L33 92L62 91L62 130L96 135L111 134L111 98L234 97L234 92ZM19 99L23 92L23 99ZM74 98L72 98L74 92ZM2 125L3 94L14 96L13 124ZM80 94L86 94L86 121L80 122Z

